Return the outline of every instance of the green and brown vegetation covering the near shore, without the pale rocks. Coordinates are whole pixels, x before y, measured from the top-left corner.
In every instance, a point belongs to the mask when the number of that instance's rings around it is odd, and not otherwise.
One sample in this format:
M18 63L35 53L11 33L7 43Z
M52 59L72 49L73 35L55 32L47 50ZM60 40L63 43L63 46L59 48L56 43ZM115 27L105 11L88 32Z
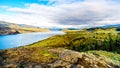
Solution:
M49 64L58 59L63 49L105 57L114 65L120 66L120 34L115 29L65 32L64 35L52 36L31 45L0 51L0 66L14 66L16 63L23 67L28 63Z

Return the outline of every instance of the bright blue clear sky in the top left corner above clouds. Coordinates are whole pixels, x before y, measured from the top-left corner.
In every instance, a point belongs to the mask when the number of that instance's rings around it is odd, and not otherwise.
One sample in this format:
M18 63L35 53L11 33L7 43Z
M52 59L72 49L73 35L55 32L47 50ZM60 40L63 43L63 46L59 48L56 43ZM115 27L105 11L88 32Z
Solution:
M31 4L31 3L47 5L48 1L47 0L1 0L0 1L1 6L20 7L20 8L25 8L25 4ZM6 11L4 9L0 9L0 12L5 13Z

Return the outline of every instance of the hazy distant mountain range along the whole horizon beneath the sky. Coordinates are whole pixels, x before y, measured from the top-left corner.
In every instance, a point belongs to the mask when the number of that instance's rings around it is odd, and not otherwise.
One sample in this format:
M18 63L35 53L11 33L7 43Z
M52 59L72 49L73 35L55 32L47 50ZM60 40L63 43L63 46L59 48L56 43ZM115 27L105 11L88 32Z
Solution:
M91 27L91 28L87 28L87 30L94 30L98 28L102 28L102 29L116 28L118 31L120 31L120 24ZM14 24L10 22L0 21L0 35L18 34L18 33L26 33L26 32L62 31L66 29L79 30L79 28L74 28L74 27L73 28L60 28L60 27L40 28L37 26Z

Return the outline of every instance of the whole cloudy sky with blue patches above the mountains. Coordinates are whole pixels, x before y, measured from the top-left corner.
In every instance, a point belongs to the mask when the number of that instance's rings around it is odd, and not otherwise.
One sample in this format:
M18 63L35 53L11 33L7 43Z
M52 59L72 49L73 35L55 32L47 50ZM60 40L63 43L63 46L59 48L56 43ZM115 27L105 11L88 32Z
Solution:
M0 21L63 28L120 24L120 0L0 0Z

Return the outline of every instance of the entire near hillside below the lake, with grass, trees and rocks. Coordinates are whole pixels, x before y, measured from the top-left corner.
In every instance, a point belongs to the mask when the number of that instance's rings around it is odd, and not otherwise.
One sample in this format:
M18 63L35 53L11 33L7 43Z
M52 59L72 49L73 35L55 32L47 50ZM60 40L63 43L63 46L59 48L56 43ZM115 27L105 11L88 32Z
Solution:
M120 34L114 29L66 31L33 43L0 51L0 67L119 68Z

